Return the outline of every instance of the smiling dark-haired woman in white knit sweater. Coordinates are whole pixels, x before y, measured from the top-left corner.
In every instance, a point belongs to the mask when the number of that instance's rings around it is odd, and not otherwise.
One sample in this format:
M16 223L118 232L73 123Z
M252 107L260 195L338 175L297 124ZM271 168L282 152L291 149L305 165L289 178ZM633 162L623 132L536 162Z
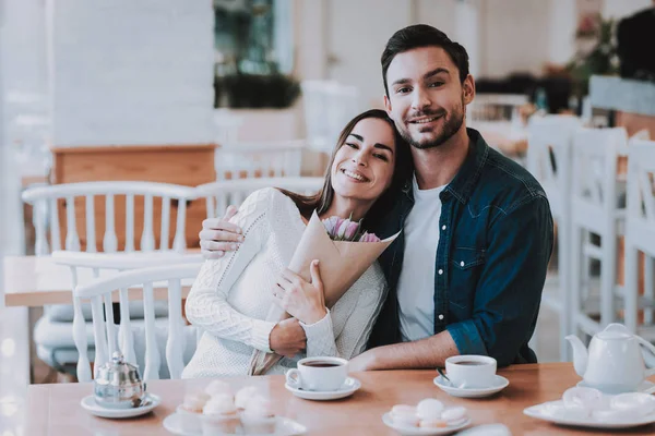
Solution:
M248 374L253 349L284 358L284 373L305 356L350 359L364 351L384 301L386 282L374 263L329 310L319 266L311 282L286 269L315 209L320 218L382 219L409 173L408 146L382 110L355 117L340 135L323 189L314 196L264 189L230 220L243 230L235 252L206 261L187 299L187 318L203 330L182 377ZM380 235L382 238L388 235ZM267 322L271 304L291 318Z

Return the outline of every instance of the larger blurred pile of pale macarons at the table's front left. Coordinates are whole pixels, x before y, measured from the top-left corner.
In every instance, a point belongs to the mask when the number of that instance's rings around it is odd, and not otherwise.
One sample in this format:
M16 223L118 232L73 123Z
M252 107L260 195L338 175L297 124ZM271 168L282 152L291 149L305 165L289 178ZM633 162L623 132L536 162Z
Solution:
M271 402L253 386L234 395L229 384L213 380L203 392L187 395L177 413L182 431L204 436L275 433Z

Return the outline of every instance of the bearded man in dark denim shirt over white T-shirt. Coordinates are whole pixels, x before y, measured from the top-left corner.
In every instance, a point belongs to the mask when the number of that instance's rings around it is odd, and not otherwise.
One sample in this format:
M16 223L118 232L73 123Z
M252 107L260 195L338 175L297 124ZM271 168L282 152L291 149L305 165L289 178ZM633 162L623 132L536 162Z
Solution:
M536 362L527 342L553 239L541 186L466 129L475 83L466 50L445 34L427 25L396 32L382 76L415 174L384 228L373 229L403 231L380 257L389 296L350 371L443 366L456 354L490 355L499 366ZM237 238L225 221L203 228L205 254Z

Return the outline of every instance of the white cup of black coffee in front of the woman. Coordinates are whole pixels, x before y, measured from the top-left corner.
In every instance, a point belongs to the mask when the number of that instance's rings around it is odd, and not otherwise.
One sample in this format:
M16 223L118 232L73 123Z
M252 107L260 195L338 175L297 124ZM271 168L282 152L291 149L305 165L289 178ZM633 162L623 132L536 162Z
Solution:
M297 370L286 373L287 385L294 389L337 390L348 377L348 361L341 358L306 358Z

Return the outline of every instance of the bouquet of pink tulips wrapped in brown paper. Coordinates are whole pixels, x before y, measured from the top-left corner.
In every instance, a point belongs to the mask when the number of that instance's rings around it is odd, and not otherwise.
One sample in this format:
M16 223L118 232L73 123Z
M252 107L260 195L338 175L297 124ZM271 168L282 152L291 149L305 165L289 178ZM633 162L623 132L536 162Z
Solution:
M310 281L309 266L318 259L325 305L332 307L396 237L397 233L380 240L372 233L361 232L361 221L340 217L321 221L314 211L288 268ZM273 304L266 320L277 323L287 317L286 312ZM266 373L279 359L277 354L254 350L250 360L250 375Z

